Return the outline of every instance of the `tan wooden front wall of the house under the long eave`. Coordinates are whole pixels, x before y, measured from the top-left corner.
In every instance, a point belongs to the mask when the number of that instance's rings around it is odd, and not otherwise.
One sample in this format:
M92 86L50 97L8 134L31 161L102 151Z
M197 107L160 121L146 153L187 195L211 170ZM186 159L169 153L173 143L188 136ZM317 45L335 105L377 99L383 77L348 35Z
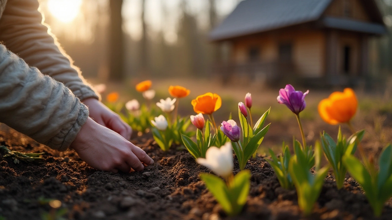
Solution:
M258 47L261 63L279 60L279 44L292 45L292 62L300 76L320 77L325 74L325 34L318 30L283 29L276 32L246 36L233 41L232 61L249 62L249 49Z

